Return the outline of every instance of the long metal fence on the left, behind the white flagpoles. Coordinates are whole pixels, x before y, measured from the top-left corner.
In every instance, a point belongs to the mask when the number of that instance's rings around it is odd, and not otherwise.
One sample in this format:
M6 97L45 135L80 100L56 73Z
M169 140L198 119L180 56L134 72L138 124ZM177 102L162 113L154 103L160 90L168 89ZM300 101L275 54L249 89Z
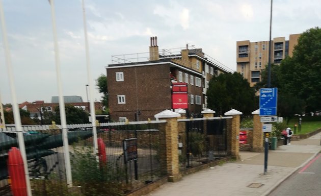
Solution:
M71 189L60 126L23 127L33 195L122 195L161 178L158 126L165 122L100 124L97 137L104 148L98 142L99 158L93 153L91 125L68 125ZM0 132L0 195L12 195L8 153L18 147L16 133L10 127Z

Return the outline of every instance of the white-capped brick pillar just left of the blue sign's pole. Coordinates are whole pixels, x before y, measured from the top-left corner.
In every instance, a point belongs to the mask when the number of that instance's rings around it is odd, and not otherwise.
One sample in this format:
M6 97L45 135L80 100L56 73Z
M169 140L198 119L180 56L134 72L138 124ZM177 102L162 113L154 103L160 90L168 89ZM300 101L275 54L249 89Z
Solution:
M252 138L252 152L263 152L263 132L262 123L260 119L260 111L255 110L253 114L253 138Z

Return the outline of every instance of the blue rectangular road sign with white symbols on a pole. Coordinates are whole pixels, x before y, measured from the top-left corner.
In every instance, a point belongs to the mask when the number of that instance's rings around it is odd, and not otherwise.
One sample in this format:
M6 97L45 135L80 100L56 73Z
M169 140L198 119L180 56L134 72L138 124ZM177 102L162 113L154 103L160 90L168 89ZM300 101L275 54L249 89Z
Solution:
M260 116L275 116L277 114L278 88L260 89Z

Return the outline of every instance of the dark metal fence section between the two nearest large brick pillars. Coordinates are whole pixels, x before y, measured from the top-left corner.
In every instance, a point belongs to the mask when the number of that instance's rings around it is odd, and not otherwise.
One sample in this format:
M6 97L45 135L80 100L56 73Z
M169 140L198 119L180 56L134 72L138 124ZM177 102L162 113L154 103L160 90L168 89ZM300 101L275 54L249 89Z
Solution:
M179 119L179 162L184 170L227 156L226 119Z

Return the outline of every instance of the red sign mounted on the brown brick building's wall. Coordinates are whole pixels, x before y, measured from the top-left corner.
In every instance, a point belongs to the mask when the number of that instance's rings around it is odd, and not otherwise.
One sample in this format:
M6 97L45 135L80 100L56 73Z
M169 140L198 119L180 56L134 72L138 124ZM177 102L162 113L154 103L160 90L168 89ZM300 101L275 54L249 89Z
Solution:
M173 109L187 109L188 105L188 84L187 83L173 83L172 84L172 108Z

